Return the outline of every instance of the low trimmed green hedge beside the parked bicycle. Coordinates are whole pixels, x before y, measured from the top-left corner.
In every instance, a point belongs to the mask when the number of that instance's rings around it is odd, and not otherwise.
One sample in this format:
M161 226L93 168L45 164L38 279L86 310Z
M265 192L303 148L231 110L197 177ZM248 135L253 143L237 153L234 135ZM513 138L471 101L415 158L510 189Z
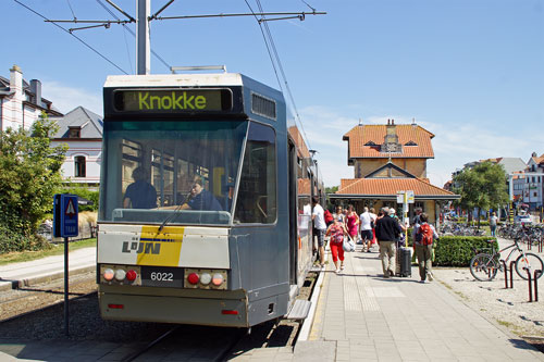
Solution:
M443 236L436 241L434 250L434 265L438 266L469 266L474 257L474 250L491 251L491 245L485 236ZM497 239L494 246L498 249Z

